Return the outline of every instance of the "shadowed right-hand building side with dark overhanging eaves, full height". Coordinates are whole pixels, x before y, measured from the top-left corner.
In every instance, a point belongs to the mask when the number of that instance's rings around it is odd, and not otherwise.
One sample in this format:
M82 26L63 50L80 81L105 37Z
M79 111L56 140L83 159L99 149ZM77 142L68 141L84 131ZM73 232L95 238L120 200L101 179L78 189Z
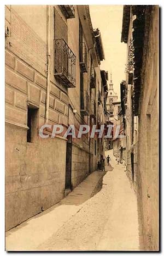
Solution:
M125 5L127 175L137 193L143 249L159 250L159 6Z

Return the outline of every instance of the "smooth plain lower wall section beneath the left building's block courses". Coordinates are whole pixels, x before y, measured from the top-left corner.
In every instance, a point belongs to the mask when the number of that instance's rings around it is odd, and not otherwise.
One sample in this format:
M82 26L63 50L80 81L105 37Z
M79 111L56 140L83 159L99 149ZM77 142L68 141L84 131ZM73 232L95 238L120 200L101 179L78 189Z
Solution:
M59 202L65 192L66 141L26 138L26 129L5 126L6 230Z

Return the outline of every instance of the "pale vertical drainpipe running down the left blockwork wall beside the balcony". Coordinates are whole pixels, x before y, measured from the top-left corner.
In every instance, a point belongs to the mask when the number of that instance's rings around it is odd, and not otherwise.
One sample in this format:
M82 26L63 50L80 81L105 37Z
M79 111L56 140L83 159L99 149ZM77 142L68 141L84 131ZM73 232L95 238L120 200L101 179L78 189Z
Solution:
M45 123L49 120L49 96L50 96L50 5L46 7L46 45L47 45L47 76L46 76L46 107L45 107Z

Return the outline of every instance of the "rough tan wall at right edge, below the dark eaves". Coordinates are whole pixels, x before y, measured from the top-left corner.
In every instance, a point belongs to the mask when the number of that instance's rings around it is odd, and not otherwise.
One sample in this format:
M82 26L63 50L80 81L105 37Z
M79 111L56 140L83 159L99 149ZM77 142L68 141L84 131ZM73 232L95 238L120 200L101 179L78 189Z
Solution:
M148 17L146 16L146 24ZM146 250L159 250L159 7L145 29L143 87L140 96L137 194Z

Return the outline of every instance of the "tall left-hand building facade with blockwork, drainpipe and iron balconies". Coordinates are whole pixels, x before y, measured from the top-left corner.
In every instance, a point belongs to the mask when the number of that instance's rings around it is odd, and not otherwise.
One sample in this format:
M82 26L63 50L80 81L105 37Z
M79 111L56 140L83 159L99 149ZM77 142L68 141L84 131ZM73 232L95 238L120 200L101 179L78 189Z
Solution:
M96 138L39 136L44 124L104 122L101 34L88 5L5 6L5 228L59 202L96 169ZM99 104L99 90L102 90ZM99 145L100 144L100 145Z

